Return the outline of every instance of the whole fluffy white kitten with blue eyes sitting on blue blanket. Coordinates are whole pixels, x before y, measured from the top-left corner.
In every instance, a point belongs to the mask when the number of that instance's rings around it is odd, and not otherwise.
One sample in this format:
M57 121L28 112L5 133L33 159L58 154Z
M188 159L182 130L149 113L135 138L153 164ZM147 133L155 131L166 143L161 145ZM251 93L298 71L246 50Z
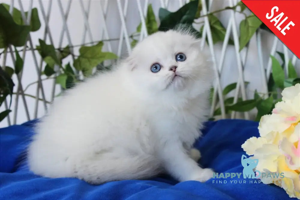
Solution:
M199 167L189 151L208 114L212 71L191 34L147 37L114 70L55 102L29 146L30 169L93 184L161 172L208 180L213 171Z

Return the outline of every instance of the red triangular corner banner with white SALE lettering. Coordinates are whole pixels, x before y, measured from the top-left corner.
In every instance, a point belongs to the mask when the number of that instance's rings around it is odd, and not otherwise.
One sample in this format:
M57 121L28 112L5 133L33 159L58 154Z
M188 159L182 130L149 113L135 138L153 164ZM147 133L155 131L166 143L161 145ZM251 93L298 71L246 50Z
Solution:
M298 58L300 58L300 1L241 0Z

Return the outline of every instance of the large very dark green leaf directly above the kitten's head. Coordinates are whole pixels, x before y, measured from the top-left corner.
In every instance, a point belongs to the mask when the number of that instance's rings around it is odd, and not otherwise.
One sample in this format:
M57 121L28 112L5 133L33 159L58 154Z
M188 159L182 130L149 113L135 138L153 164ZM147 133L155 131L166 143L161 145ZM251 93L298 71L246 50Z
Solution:
M179 10L173 13L169 13L163 19L161 19L161 25L158 30L166 31L173 29L178 24L192 24L197 12L198 1L190 1L185 4ZM162 16L162 14L160 14Z

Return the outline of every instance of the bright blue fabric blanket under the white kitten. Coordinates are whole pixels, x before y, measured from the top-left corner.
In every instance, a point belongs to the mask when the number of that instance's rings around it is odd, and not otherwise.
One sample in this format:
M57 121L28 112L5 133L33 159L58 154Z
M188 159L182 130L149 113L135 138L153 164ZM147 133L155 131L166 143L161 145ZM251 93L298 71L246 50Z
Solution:
M91 185L76 178L43 178L30 172L25 161L34 123L0 129L0 199L289 199L280 187L258 183L257 179L250 182L242 176L212 178L205 183L178 183L163 175L102 185ZM241 173L241 155L245 154L241 144L259 135L257 126L256 122L246 120L206 123L203 137L195 143L202 153L199 163L219 173Z

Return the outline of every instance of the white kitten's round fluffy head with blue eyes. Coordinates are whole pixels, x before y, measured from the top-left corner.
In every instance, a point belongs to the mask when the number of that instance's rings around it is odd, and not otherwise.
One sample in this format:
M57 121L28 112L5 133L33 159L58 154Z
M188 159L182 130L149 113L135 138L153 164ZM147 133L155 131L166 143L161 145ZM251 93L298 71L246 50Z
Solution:
M149 96L195 97L213 80L200 40L188 31L154 33L137 44L126 62L134 85Z

